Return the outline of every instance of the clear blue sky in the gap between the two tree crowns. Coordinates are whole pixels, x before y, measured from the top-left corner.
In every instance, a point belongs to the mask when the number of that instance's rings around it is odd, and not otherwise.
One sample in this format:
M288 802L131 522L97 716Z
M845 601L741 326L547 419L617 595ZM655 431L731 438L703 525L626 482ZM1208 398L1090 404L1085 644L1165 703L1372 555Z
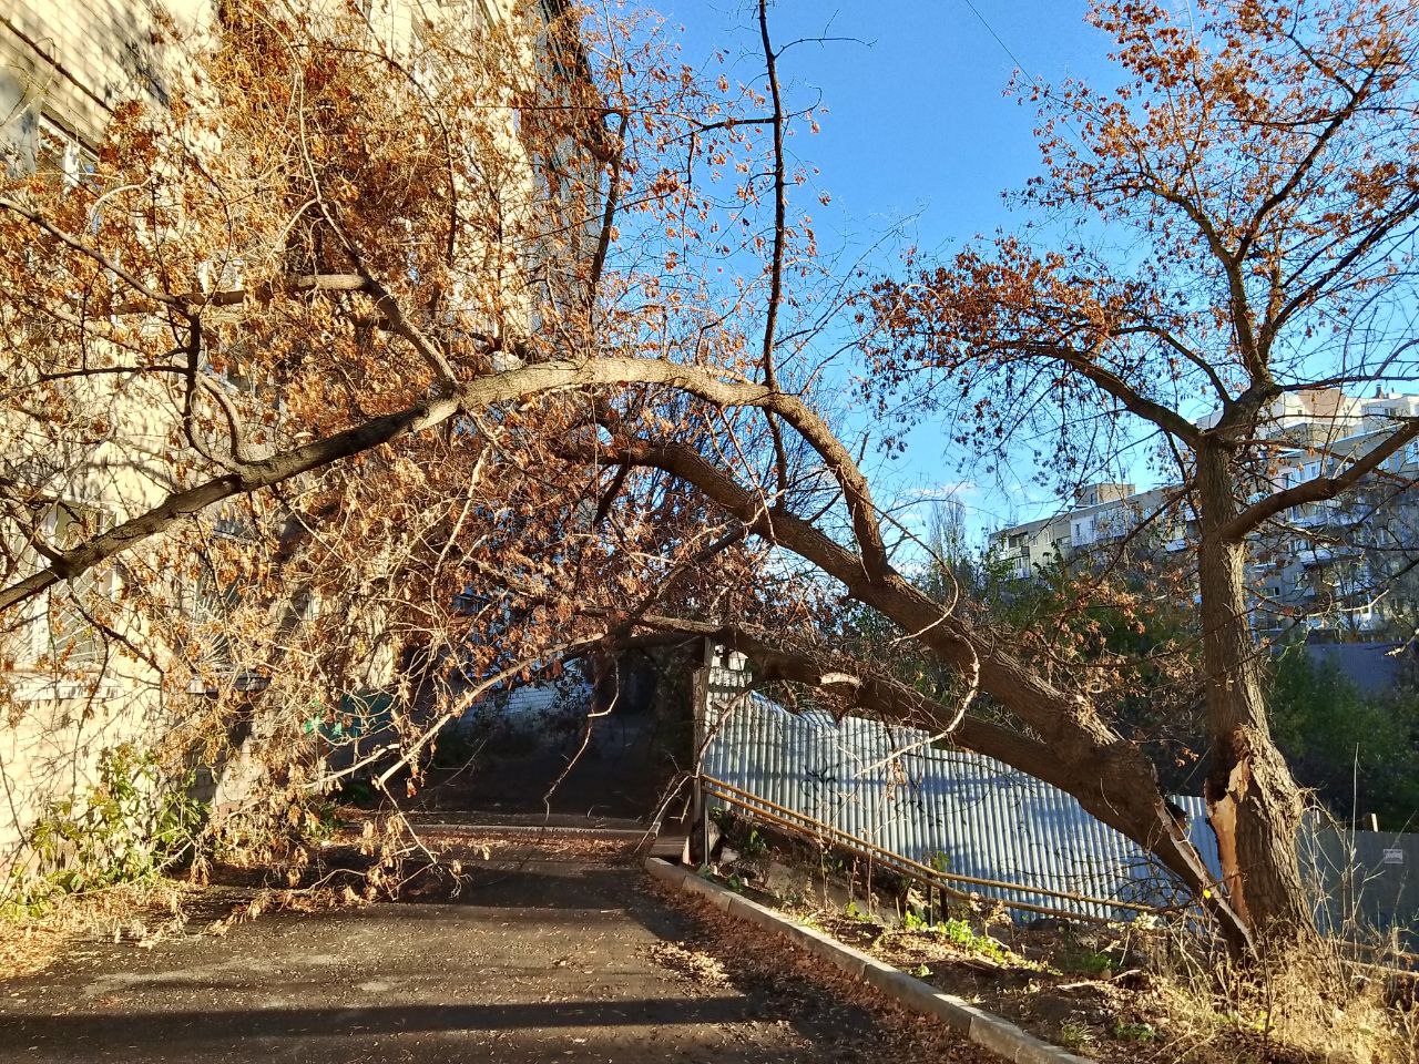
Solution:
M654 4L683 27L684 60L707 62L728 52L729 75L762 85L758 23L751 0L663 0ZM1108 40L1086 24L1078 0L778 0L771 6L776 44L803 43L780 60L789 106L822 96L827 115L817 136L795 136L790 149L822 170L832 194L800 196L812 209L824 250L860 253L893 226L924 251L949 251L981 233L1016 228L1023 218L1002 203L1037 167L1034 112L1006 98L1019 65L1059 82L1108 79ZM891 270L895 250L878 257ZM1027 474L1027 471L1022 471ZM979 532L1036 516L1047 504L1022 477L1002 489L958 468L937 430L914 433L908 454L874 471L880 494L931 498L959 485L956 498ZM910 512L924 521L927 506Z

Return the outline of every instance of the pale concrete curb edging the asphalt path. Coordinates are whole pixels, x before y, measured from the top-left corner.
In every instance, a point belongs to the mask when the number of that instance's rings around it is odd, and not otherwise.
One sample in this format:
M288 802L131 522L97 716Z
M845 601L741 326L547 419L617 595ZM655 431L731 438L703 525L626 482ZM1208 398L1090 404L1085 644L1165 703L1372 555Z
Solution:
M934 1016L954 1031L1015 1064L1094 1064L1087 1057L1066 1053L1059 1046L1040 1041L1009 1020L966 1004L954 994L944 994L929 983L900 972L891 965L844 946L822 931L795 924L780 912L735 894L727 887L695 875L692 868L668 864L660 858L646 861L654 878L674 884L687 894L698 894L718 909L768 931L776 931L799 948L823 958L854 979L861 979L908 1009Z

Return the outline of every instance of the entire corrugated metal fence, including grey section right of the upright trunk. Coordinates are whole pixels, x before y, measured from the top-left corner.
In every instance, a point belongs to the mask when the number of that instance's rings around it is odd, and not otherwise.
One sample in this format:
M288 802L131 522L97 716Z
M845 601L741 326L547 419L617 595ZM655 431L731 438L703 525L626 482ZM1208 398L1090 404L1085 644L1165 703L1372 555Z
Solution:
M701 775L721 796L766 814L805 817L1026 909L1128 921L1186 892L1135 843L1073 797L979 753L880 721L792 714L745 689L741 668L711 658L701 678ZM1172 799L1215 878L1216 840L1200 797ZM812 824L805 824L812 827ZM836 840L844 841L844 840ZM1303 864L1318 887L1317 924L1332 935L1395 931L1419 948L1419 836L1341 831L1310 820Z

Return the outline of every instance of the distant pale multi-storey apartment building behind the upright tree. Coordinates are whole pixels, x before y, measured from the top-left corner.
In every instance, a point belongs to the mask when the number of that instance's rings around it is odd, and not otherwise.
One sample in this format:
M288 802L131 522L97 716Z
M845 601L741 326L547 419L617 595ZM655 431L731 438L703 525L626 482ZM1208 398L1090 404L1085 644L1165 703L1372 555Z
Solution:
M1202 419L1206 427L1215 414ZM1330 477L1389 438L1398 419L1419 417L1419 396L1349 396L1315 389L1280 397L1263 420L1276 444L1257 471L1256 495ZM1419 628L1419 441L1391 455L1341 498L1296 506L1252 543L1254 624L1273 636L1361 638ZM1013 579L1057 563L1134 552L1181 555L1196 535L1178 485L1084 488L1073 505L990 535L989 550Z

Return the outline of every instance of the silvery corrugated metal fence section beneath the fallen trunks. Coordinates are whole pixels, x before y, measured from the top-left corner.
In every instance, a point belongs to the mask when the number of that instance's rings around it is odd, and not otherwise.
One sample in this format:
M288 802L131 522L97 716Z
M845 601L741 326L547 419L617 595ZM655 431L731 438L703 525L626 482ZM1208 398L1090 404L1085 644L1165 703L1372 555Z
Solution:
M938 871L1012 884L962 890L1032 908L1122 921L1138 915L1135 907L1182 899L1138 846L1047 783L932 746L925 732L790 714L762 695L728 692L719 680L701 772L762 799L763 809L792 810ZM1179 804L1200 819L1200 799Z

